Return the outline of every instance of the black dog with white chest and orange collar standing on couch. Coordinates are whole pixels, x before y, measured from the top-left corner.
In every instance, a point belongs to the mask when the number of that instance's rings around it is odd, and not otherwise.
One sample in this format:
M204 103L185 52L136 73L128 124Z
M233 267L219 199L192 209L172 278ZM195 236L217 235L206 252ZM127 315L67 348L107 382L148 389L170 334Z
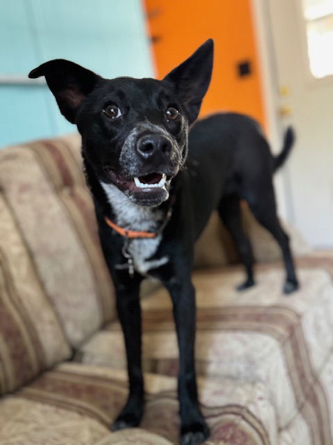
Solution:
M210 84L212 65L213 42L207 40L162 81L103 79L62 59L29 74L45 76L61 113L82 136L85 175L128 362L128 400L112 430L138 426L142 419L139 287L149 275L164 284L173 302L182 445L202 444L210 434L198 405L191 269L194 243L212 211L219 209L237 239L248 270L246 286L253 284L252 254L240 229L239 197L248 200L282 246L285 291L297 287L288 239L275 213L274 160L257 124L237 115L216 115L189 131Z

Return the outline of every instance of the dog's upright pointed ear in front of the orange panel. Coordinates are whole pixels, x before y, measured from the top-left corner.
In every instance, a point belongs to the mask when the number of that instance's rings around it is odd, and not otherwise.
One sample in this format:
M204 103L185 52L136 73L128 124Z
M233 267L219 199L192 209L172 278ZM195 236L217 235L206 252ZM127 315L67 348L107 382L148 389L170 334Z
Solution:
M207 40L185 62L164 77L163 81L172 83L185 107L189 124L198 117L201 102L210 85L213 68L213 40Z

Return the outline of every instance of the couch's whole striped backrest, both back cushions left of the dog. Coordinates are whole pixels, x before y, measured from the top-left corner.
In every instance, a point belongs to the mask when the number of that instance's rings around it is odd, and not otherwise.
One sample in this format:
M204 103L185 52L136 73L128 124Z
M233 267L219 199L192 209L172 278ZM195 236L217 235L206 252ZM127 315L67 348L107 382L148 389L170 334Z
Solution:
M0 286L0 394L114 317L78 136L1 150Z

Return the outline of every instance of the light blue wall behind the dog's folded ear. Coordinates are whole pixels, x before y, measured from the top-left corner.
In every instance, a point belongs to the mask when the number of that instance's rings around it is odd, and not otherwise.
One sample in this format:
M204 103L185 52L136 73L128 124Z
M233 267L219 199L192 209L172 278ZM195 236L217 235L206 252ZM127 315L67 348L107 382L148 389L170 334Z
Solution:
M140 0L0 0L0 76L66 58L102 76L153 76ZM0 147L75 131L44 85L3 85Z

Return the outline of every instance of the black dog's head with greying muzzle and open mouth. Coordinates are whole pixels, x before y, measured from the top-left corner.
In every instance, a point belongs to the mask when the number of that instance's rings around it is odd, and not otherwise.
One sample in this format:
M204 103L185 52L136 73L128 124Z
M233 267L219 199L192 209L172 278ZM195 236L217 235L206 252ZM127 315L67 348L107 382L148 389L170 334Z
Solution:
M136 204L157 206L185 163L188 127L210 84L212 58L207 40L162 81L103 79L62 59L43 63L29 77L45 76L61 113L77 125L99 181Z

